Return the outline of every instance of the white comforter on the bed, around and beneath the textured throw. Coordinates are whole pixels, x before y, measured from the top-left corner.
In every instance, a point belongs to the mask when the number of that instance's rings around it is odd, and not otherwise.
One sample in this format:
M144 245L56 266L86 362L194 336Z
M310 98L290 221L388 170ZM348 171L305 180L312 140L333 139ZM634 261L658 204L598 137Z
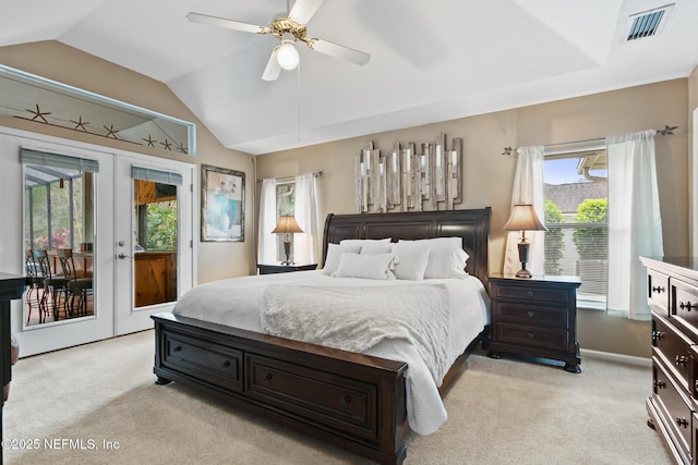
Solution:
M267 286L377 287L443 285L448 301L448 332L444 338L445 366L450 366L489 322L490 299L484 286L473 277L422 281L332 278L321 271L263 274L215 281L184 294L173 313L190 318L264 332L260 308ZM419 435L438 429L447 414L438 394L443 379L435 381L419 350L406 339L383 339L364 351L377 357L406 362L407 413L410 428ZM436 375L443 377L442 374Z

